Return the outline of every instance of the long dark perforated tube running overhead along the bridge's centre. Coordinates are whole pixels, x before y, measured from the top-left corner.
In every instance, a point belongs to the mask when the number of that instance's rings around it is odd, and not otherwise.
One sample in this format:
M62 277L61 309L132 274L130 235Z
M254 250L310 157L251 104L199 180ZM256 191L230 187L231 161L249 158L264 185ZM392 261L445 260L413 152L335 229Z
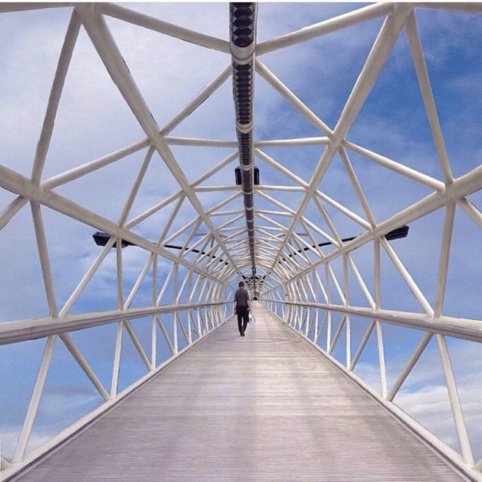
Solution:
M253 83L256 10L256 3L230 3L229 8L236 133L240 150L242 191L253 280L255 280L256 273L253 196ZM256 293L256 286L253 286L253 290Z

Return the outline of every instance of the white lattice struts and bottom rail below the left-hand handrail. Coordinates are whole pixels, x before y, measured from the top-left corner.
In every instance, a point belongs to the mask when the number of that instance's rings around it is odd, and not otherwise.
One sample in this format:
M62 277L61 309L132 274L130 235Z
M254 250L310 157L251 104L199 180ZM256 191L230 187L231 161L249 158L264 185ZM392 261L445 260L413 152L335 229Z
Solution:
M90 365L87 363L87 360L83 357L81 351L77 348L76 344L74 344L74 340L70 337L70 335L66 333L65 330L59 331L61 328L57 327L56 333L59 334L49 335L46 339L45 349L39 367L39 374L36 378L34 390L30 398L30 404L28 406L27 413L25 414L23 427L19 435L19 441L17 442L17 446L15 448L12 460L9 461L2 457L1 480L6 481L12 476L17 476L19 472L27 468L35 461L41 459L48 452L60 446L61 443L64 443L68 439L74 437L80 430L85 428L85 426L92 423L92 421L98 419L98 417L100 417L104 412L112 408L114 405L118 404L118 402L127 397L127 395L145 384L146 381L154 377L154 375L159 373L160 370L163 370L167 365L171 364L171 362L180 357L180 355L189 350L189 348L198 344L198 342L202 341L202 339L204 339L217 328L222 326L222 324L227 321L227 318L225 318L224 315L221 313L220 306L226 303L227 302L180 304L177 307L174 305L164 307L161 306L155 308L154 311L151 310L151 320L147 321L147 323L152 324L153 335L153 344L150 357L148 357L144 352L143 346L140 344L134 328L131 326L130 322L127 319L125 319L124 321L119 321L119 319L109 321L107 319L103 319L103 323L109 323L114 321L118 322L116 350L114 353L114 368L112 372L112 386L110 388L110 392L107 392L107 390L104 388L101 381L98 379ZM203 317L200 313L200 311L202 311L203 309L206 311L205 317ZM182 322L182 318L178 314L180 311L188 312L187 323ZM191 314L192 311L196 311L198 313L197 319L195 319L195 317L193 317L193 315ZM159 313L175 313L173 319L174 324L172 335L169 335L169 333L167 333L165 325L163 324L163 320L160 319ZM187 327L185 326L185 324L187 324ZM83 328L89 328L90 326L83 326ZM156 361L157 326L160 328L160 331L163 334L163 337L165 338L165 341L167 342L167 345L171 350L171 356L163 360L163 362L161 362L160 364L158 364L158 362ZM187 345L182 349L178 348L178 326L180 326L182 335L185 338L185 342L187 343ZM24 328L24 330L28 331L27 328ZM130 386L127 386L127 388L125 388L121 392L118 392L118 377L119 370L121 368L121 346L123 333L127 333L127 335L132 339L132 342L134 343L134 346L136 347L140 358L143 359L143 361L145 362L147 373L141 376ZM194 335L196 335L197 338L195 338ZM52 439L46 441L38 448L35 448L34 450L32 450L32 452L27 453L28 443L30 441L32 428L34 426L34 421L36 419L36 414L39 409L39 404L43 393L43 387L51 366L54 345L56 343L56 339L58 338L61 339L61 342L63 342L72 357L90 379L96 390L98 390L98 392L101 394L101 396L103 397L103 403L101 403L97 408L92 410L92 412L85 415L85 417L72 423L72 425L65 428L60 433L56 434ZM32 339L32 337L28 339Z

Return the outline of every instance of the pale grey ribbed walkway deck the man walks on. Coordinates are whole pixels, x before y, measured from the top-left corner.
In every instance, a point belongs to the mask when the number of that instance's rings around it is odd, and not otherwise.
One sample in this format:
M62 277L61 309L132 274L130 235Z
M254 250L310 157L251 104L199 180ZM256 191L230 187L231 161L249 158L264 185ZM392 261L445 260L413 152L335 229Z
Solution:
M460 481L258 305L224 324L23 482Z

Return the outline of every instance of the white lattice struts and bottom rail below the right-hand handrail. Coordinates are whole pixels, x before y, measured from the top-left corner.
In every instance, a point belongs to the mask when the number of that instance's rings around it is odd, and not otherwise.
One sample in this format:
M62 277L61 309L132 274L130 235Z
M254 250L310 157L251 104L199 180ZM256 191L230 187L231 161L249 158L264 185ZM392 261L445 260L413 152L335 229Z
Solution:
M470 440L468 438L467 428L465 426L465 420L463 417L463 410L461 402L459 400L459 394L457 391L457 383L455 381L452 364L450 362L450 356L448 353L448 348L445 339L445 331L443 328L439 330L443 324L439 324L439 327L432 330L427 330L425 335L421 338L419 345L415 348L412 356L408 360L406 366L401 370L398 379L393 384L391 390L387 390L386 387L386 373L385 373L385 358L384 358L384 344L383 337L381 336L380 323L391 321L380 319L379 317L368 317L371 319L368 324L368 328L359 342L357 351L353 357L351 357L350 351L346 354L346 364L340 362L335 356L333 356L333 350L339 340L339 335L342 331L346 331L346 339L350 340L350 314L354 313L353 310L342 309L342 306L326 305L318 303L302 303L302 302L285 302L282 300L274 300L272 298L264 298L262 304L266 306L273 314L280 319L280 321L286 323L297 335L305 339L312 346L314 346L326 359L329 360L334 366L347 375L350 379L355 381L355 383L362 388L370 397L375 399L377 403L386 409L390 414L402 423L408 430L413 432L417 437L423 440L430 448L435 450L438 454L446 459L448 463L453 464L458 470L460 470L465 476L468 476L471 480L482 481L482 460L478 463L474 462L472 457L472 449L470 446ZM280 311L280 307L283 309ZM319 319L319 311L326 311L326 315L323 321ZM335 334L332 337L331 333L331 311L338 311L339 313L344 313L342 319L339 321ZM381 311L378 311L378 313ZM355 313L354 313L355 314ZM281 315L281 316L280 316ZM357 316L359 313L356 313ZM366 316L365 316L366 317ZM326 322L328 318L328 322ZM404 324L403 322L396 323L406 328L415 328L410 324ZM479 322L480 324L480 322ZM326 326L326 344L325 348L322 348L322 340L320 335L324 332ZM434 328L434 327L432 327ZM376 330L377 332L377 348L378 348L378 364L381 376L381 390L375 390L370 384L368 384L364 379L357 376L353 370L359 361L360 355L366 344L368 338ZM457 336L457 335L451 335ZM417 364L419 357L423 353L423 350L428 346L428 343L436 339L437 346L439 349L441 357L441 365L443 368L444 379L446 381L446 387L448 390L448 395L450 399L450 405L452 408L452 414L454 416L455 428L457 430L457 435L459 437L459 443L461 446L461 453L454 450L452 447L441 440L437 435L433 434L425 426L422 425L415 417L412 417L407 412L405 412L401 407L399 407L393 399L397 392L399 392L404 381L410 375L412 368ZM472 339L471 337L465 339ZM482 342L482 337L479 337L476 341Z

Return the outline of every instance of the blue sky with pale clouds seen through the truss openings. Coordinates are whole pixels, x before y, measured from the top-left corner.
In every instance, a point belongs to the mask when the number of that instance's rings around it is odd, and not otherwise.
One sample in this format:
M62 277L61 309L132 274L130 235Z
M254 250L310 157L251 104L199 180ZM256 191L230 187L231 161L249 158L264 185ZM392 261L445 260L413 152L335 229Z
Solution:
M127 6L228 39L227 3L138 3ZM363 4L262 3L258 12L258 41L271 39L359 6ZM4 46L0 52L0 162L27 176L30 176L50 84L69 19L70 8L0 15L0 43ZM417 10L417 21L452 171L454 176L461 176L481 163L482 39L479 32L482 19L470 14ZM107 23L160 127L229 63L229 58L220 52L207 51L115 19L108 19ZM261 60L333 128L381 23L382 19L374 19L342 32L266 54ZM172 135L234 140L233 119L231 81L228 80L192 116L176 127ZM260 76L255 78L256 139L317 135L320 135L317 129ZM44 178L143 138L145 134L109 78L87 34L81 29L56 118ZM347 138L442 179L405 32L397 41ZM189 180L194 180L232 152L232 149L192 147L173 147L172 150ZM266 154L309 180L322 151L322 146L271 148L266 149ZM57 191L108 219L116 220L132 187L133 173L139 169L144 154L145 151L133 154ZM357 154L348 154L377 221L384 220L428 194L427 189ZM263 184L291 185L289 180L262 161L257 160L257 164ZM222 169L215 181L209 180L205 184L232 184L233 167L229 165ZM136 216L177 189L171 174L155 154L132 215ZM363 216L337 156L319 189ZM223 197L215 193L200 196L200 200L209 208ZM277 199L295 208L300 197L300 193L280 193ZM11 193L0 189L0 209L12 199ZM472 201L479 209L482 208L480 191L474 193ZM267 206L259 200L257 202L260 207ZM233 207L227 209L240 209L241 203L238 199L232 203ZM362 231L346 216L329 207L326 209L342 236ZM42 212L50 246L54 287L61 306L92 263L98 247L92 242L92 228L49 209L43 208ZM169 212L169 209L163 209L139 224L134 231L155 241ZM306 213L308 218L322 227L323 221L315 207L308 207ZM171 232L192 217L193 209L186 202ZM281 218L276 220L286 223ZM407 240L393 242L401 260L431 303L434 302L437 282L442 221L443 211L432 213L410 225ZM444 307L447 315L482 318L482 244L477 241L481 241L479 228L457 208ZM0 297L8 300L0 306L0 322L47 315L28 206L0 231L0 243ZM147 257L137 248L125 249L123 253L125 291L128 293ZM353 253L353 259L370 289L373 288L372 253L371 243ZM166 275L169 267L167 262L160 265L160 279ZM341 265L333 262L333 269L341 279ZM74 305L72 313L116 308L115 272L115 253L112 252ZM145 286L134 300L135 306L149 303L150 280L149 274ZM171 296L171 293L166 296ZM362 306L366 304L355 283L350 301ZM384 308L420 311L388 258L382 259L381 304ZM167 324L170 324L169 319ZM138 329L141 342L148 347L149 321L138 320L134 326ZM354 340L361 337L364 326L366 320L353 320ZM393 374L397 368L403 366L421 334L384 326L384 335L390 378L395 376ZM114 326L74 333L73 337L99 377L109 386ZM95 341L92 342L92 339ZM339 343L342 342L340 339ZM376 386L373 346L370 348L368 345L366 357L360 361L359 374ZM476 432L473 427L482 426L481 404L475 401L482 399L478 388L482 386L481 380L476 379L480 377L477 374L481 373L482 368L479 362L481 349L475 344L457 340L450 340L449 347L454 370L459 377L461 399L468 408L465 415L468 426L472 427L470 435L474 450L480 458L482 432ZM0 348L1 386L9 387L0 393L3 414L0 428L4 434L3 446L7 455L12 450L28 405L42 350L43 344L39 340ZM160 347L160 350L167 357L167 347ZM143 373L143 364L132 346L125 347L124 355L128 363L123 364L124 371L121 370L121 385L127 386ZM338 350L335 356L343 359L344 353ZM406 388L400 394L399 403L402 408L417 415L430 430L457 446L448 397L437 364L436 347L429 346L424 356L426 360L421 359L420 367L425 368L416 368L410 375ZM80 369L58 341L39 420L34 428L32 446L72 423L100 402L82 377ZM53 407L67 404L72 407L70 410L52 412ZM447 423L441 423L442 419Z

